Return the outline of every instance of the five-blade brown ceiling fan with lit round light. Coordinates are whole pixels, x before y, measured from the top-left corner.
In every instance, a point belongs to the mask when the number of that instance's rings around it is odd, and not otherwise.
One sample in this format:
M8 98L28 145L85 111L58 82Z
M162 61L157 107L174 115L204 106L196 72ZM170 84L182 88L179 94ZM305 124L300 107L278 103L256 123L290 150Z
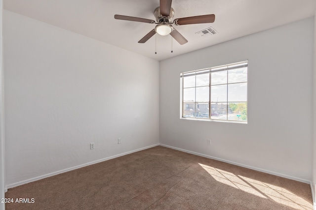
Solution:
M173 28L171 26L172 24L176 26L181 26L181 25L188 25L188 24L213 23L215 21L215 15L210 14L210 15L200 15L200 16L178 18L172 22L172 18L174 17L174 9L171 8L171 3L172 3L172 0L160 0L160 6L157 7L154 11L154 15L156 17L157 22L154 20L149 20L145 18L130 17L130 16L125 16L125 15L114 15L114 18L118 20L157 24L155 29L147 33L141 40L138 41L138 43L145 43L153 35L158 33L163 36L170 34L181 45L187 43L188 40L184 38L184 36L181 35L179 31Z

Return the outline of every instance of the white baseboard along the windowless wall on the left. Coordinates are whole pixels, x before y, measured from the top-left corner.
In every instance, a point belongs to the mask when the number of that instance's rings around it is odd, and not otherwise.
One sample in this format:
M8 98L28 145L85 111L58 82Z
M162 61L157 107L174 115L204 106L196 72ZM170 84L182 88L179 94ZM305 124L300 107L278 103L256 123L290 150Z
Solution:
M16 187L16 186L19 186L19 185L22 185L22 184L26 184L26 183L32 182L32 181L37 181L37 180L41 180L41 179L44 179L44 178L47 178L47 177L52 177L52 176L55 176L57 174L65 173L65 172L68 172L68 171L72 171L72 170L79 169L79 168L82 168L82 167L85 167L85 166L89 166L89 165L93 165L93 164L96 164L96 163L100 163L100 162L103 162L103 161L106 161L106 160L114 159L114 158L117 158L117 157L120 157L120 156L124 156L126 154L137 152L137 151L146 150L146 149L153 148L153 147L156 147L156 146L159 146L159 144L151 145L151 146L140 148L140 149L137 149L137 150L127 151L127 152L124 152L124 153L121 153L121 154L113 155L113 156L110 156L110 157L106 157L106 158L102 158L102 159L95 160L95 161L92 161L92 162L88 162L88 163L85 163L85 164L81 164L81 165L78 165L78 166L74 166L74 167L71 167L71 168L67 168L67 169L63 169L63 170L60 170L60 171L52 172L52 173L49 173L49 174L46 174L46 175L42 175L42 176L39 176L39 177L35 177L35 178L29 179L29 180L23 180L23 181L19 181L19 182L16 182L16 183L8 184L8 185L6 185L6 190L9 189L9 188L12 188L12 187Z

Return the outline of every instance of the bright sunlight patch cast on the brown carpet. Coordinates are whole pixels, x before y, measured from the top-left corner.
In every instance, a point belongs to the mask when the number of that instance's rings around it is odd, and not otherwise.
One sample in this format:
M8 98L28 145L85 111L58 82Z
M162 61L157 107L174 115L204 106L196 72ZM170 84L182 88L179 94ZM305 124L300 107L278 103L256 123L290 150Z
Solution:
M289 207L294 207L297 209L310 210L311 204L305 199L293 194L285 188L265 183L259 180L250 179L247 177L235 175L231 172L224 171L211 166L199 165L210 174L214 180L221 183L227 184L234 188L240 189L244 192L256 195L265 199L272 199L273 201L286 205Z

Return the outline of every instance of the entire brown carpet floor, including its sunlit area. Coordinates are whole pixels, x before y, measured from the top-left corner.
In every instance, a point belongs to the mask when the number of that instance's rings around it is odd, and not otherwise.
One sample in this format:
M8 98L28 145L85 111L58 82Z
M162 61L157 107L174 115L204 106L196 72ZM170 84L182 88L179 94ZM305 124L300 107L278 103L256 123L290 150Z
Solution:
M155 147L8 190L6 210L312 210L310 185Z

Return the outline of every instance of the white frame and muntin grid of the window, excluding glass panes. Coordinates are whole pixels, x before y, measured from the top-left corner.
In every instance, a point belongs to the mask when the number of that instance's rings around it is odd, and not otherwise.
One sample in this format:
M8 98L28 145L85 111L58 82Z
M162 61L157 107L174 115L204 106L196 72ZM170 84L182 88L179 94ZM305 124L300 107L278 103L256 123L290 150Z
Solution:
M246 78L246 81L244 82L237 82L237 83L229 83L228 81L228 74L227 74L227 95L226 95L226 119L212 119L212 111L211 111L211 107L212 107L212 103L214 103L214 100L211 99L211 87L212 86L216 86L216 85L212 85L211 84L211 74L214 73L214 72L220 72L220 71L229 71L229 70L232 70L232 69L237 69L237 68L242 68L242 67L247 67L247 78ZM204 68L204 69L199 69L199 70L194 70L194 71L187 71L187 72L182 72L180 73L180 119L186 119L186 120L203 120L203 121L224 121L224 122L237 122L237 123L247 123L248 122L248 60L243 60L243 61L240 61L240 62L234 62L234 63L230 63L230 64L225 64L225 65L220 65L220 66L214 66L214 67L211 67L211 68ZM194 104L194 116L193 117L185 117L185 114L184 114L184 104L186 104L185 106L188 106L188 102L185 102L183 100L183 94L184 94L184 88L183 85L184 85L184 77L189 76L189 75L192 75L192 74L195 74L195 75L199 75L199 74L209 74L209 85L208 85L208 88L209 88L209 101L208 101L208 118L201 118L200 116L196 117L196 113L197 113L197 106L199 106L199 104L206 104L207 102L197 102L196 100L195 101L192 101L192 103ZM228 101L228 85L230 84L238 84L238 83L245 83L247 85L247 90L246 90L246 101ZM225 85L225 84L224 84ZM197 88L199 86L197 86L197 84L195 84L195 88ZM205 86L207 87L207 86ZM193 88L193 87L192 87ZM195 93L196 95L196 93ZM213 101L213 102L212 102ZM217 102L218 102L218 97L217 97ZM189 102L190 103L190 102ZM229 116L229 103L246 103L246 116L247 116L247 119L246 120L229 120L228 116ZM218 106L218 104L217 104ZM213 113L214 114L214 113ZM206 114L204 114L206 115ZM207 116L207 115L206 115ZM240 116L240 115L239 115ZM238 117L239 118L239 117Z

